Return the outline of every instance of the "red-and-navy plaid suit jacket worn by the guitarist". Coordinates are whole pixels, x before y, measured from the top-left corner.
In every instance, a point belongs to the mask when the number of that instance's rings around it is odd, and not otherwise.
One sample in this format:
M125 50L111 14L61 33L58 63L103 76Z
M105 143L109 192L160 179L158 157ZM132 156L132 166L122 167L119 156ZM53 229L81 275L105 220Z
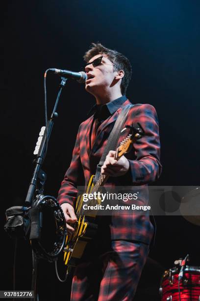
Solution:
M122 108L127 104L131 104L129 100L126 100L113 115L100 124L92 149L90 149L89 139L93 116L80 124L72 162L58 192L60 205L70 203L74 206L81 171L84 173L85 185L88 184L90 176L96 173L97 164L109 134ZM121 177L110 177L109 183L112 185L147 185L160 176L162 166L160 164L159 128L154 107L150 104L134 105L127 115L125 125L134 125L137 122L142 125L145 135L133 144L130 152L125 154L130 163L129 171ZM120 135L119 144L126 135L127 132ZM84 183L82 183L83 185ZM100 216L100 218L103 221L104 216ZM149 216L142 214L113 215L109 222L109 228L113 240L136 240L149 244L153 235L153 226Z

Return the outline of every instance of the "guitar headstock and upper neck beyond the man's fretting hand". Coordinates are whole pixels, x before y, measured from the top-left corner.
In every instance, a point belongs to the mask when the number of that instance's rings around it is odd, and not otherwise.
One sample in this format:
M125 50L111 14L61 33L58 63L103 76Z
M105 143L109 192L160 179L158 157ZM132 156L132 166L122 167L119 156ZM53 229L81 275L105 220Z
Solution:
M144 136L145 131L142 128L141 124L138 122L138 127L134 127L131 125L126 125L126 128L130 129L129 134L126 138L120 143L120 146L116 150L116 159L123 156L126 152L128 152L132 146L132 143L136 140L142 138Z

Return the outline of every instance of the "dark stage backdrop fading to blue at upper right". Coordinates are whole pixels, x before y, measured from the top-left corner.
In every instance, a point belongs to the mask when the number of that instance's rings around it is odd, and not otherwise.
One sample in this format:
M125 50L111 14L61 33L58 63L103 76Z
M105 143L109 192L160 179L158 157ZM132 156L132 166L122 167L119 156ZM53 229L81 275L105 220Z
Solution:
M155 184L199 185L199 0L10 0L3 14L2 226L5 209L24 203L33 172L33 151L45 124L44 72L50 67L82 70L82 56L91 42L100 41L129 58L133 76L127 97L133 103L150 103L156 108L163 172ZM49 114L58 85L59 77L48 75ZM67 82L44 164L47 194L57 196L71 161L78 125L94 103L84 85ZM189 253L191 264L200 266L200 227L182 216L155 219L157 235L150 258L170 268L175 259ZM11 290L14 241L3 231L1 251L4 269L0 289ZM57 281L52 264L41 261L39 270L41 296L46 292L48 298L59 300L66 294L69 285ZM153 277L154 270L149 272ZM30 280L31 249L20 241L16 289L29 289Z

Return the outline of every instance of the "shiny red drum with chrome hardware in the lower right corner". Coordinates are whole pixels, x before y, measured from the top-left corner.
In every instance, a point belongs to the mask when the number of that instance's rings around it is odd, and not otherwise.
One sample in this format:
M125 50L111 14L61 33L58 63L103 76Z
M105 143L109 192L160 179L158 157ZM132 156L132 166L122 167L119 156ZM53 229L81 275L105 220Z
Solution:
M183 278L179 282L180 299L178 293L178 273L180 267L164 272L160 283L162 301L200 301L200 267L185 266Z

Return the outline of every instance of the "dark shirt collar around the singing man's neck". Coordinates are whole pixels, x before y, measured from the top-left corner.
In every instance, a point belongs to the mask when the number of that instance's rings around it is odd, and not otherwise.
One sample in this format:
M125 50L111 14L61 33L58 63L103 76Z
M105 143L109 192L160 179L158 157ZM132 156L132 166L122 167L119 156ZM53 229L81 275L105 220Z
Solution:
M125 95L110 101L104 105L94 105L91 110L89 111L89 113L87 114L88 116L91 116L93 114L101 114L101 112L105 112L107 111L107 113L109 113L109 115L115 113L122 105L123 103L126 101L127 97Z

